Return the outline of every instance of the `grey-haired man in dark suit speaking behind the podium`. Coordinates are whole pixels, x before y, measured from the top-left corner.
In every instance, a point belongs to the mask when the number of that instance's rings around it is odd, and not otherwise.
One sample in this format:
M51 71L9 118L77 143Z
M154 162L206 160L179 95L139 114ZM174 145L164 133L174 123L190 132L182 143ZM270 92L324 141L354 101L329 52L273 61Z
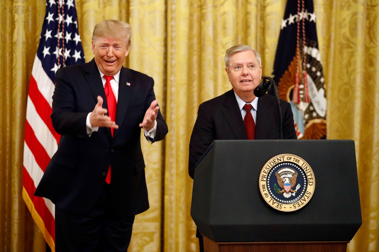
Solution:
M251 104L255 123L252 139L278 139L279 123L276 99L268 94L255 97L254 89L262 77L261 58L247 45L235 45L225 54L226 73L233 89L200 104L197 119L189 142L188 173L194 177L197 161L213 140L247 140L244 117L245 104ZM296 139L290 103L280 100L283 139ZM197 232L200 251L202 236Z

